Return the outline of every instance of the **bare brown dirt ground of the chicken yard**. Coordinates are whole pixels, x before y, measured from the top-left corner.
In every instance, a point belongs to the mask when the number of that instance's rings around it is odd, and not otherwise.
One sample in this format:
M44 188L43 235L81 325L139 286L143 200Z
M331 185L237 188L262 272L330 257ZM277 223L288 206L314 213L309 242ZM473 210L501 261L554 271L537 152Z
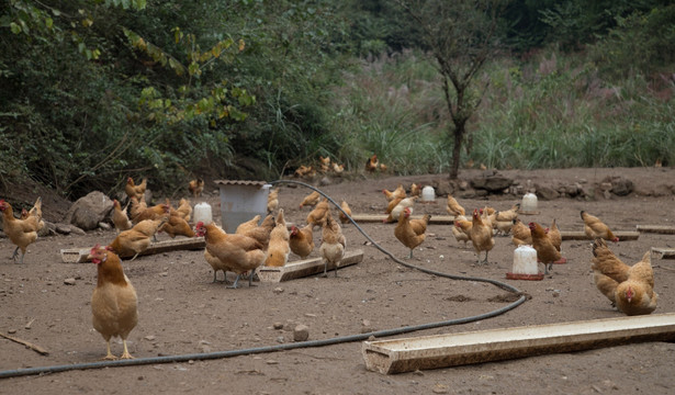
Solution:
M671 168L565 169L504 171L525 184L556 185L578 182L597 185L607 176L631 180L637 192L610 199L556 199L539 201L541 214L525 221L550 224L556 218L562 230L582 230L580 211L597 215L617 230L635 225L675 225L675 170ZM479 176L477 170L460 177ZM385 208L383 188L409 185L446 176L359 178L320 189L336 201L347 200L353 212L378 214ZM151 182L150 182L151 184ZM281 187L280 202L286 221L304 224L308 208L299 203L310 191ZM220 222L218 194L213 188L203 199L212 203ZM458 199L468 210L492 205L506 210L520 201L515 195ZM45 212L52 200L45 200ZM446 215L445 198L436 204L417 204L415 213ZM55 211L63 207L54 206ZM360 224L395 257L408 250L394 237L394 225ZM475 266L471 245L458 244L450 225L430 225L426 241L408 262L441 272L495 279L531 296L520 306L493 318L416 331L398 337L452 334L490 328L566 323L621 317L595 287L589 270L588 241L563 241L566 264L556 264L542 281L506 280L514 246L510 237L497 237L490 264ZM175 251L125 261L124 270L135 285L139 323L132 331L130 351L136 358L182 356L239 350L293 342L293 328L310 328L310 339L328 339L449 320L492 312L508 302L505 291L475 281L455 281L405 268L367 242L349 224L344 226L348 250L360 249L363 260L328 278L265 283L237 290L212 283L211 267L203 252ZM315 232L319 242L320 233ZM0 338L0 371L68 365L99 361L105 342L91 326L90 297L95 285L91 263L64 263L60 249L108 244L114 230L86 236L49 236L30 246L25 263L9 257L14 246L0 238L0 334L46 349L41 356L16 342ZM166 235L159 237L167 239ZM675 248L675 236L642 233L638 240L611 244L610 248L632 264L651 247ZM312 257L317 256L315 250ZM297 260L291 256L291 261ZM653 259L654 314L675 312L675 264ZM232 273L230 273L232 274ZM222 275L222 274L221 274ZM75 285L65 284L75 279ZM280 327L275 329L275 327ZM0 380L0 394L76 393L232 393L232 394L672 394L675 392L675 345L633 343L574 353L547 354L500 362L384 375L365 369L361 341L302 348L270 353L183 363L76 370ZM122 345L113 341L113 353Z

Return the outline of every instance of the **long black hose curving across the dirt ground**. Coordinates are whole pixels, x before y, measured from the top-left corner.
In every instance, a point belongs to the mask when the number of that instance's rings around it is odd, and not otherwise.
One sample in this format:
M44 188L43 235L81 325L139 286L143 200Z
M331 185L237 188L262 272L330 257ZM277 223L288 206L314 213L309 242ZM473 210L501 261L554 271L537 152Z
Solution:
M340 210L345 215L347 215L347 213L345 213L345 211L339 206L339 204L337 204L330 196L326 195L323 191L318 190L317 188L313 185L310 185L307 183L300 182L300 181L294 181L294 180L277 180L270 183L271 184L294 183L294 184L299 184L299 185L312 189L318 192L319 194L322 194L330 203L333 203L338 210ZM379 246L349 215L347 215L347 217L357 227L357 229L359 229L359 232L370 242L372 242L373 246L375 246L375 248L378 248L384 255L392 258L398 264L402 264L406 268L419 270L424 273L434 274L434 275L438 275L438 276L442 276L442 278L447 278L451 280L486 282L486 283L496 285L503 290L506 290L508 292L521 294L521 292L517 287L503 283L500 281L484 279L484 278L474 278L474 276L441 273L435 270L425 269L421 267L410 264L408 262L404 262L400 260L398 258L394 257L391 252L383 249L381 246ZM38 368L7 370L7 371L0 371L0 379L18 377L18 376L35 375L35 374L58 373L58 372L66 372L66 371L72 371L72 370L89 370L89 369L114 368L114 366L134 366L134 365L145 365L145 364L224 359L224 358L268 353L268 352L275 352L275 351L301 349L301 348L324 347L324 346L339 345L339 343L352 342L352 341L363 341L363 340L368 340L370 337L383 338L387 336L408 334L408 332L418 331L418 330L434 329L434 328L439 328L439 327L445 327L445 326L472 323L472 321L476 321L476 320L481 320L485 318L492 318L500 314L504 314L510 309L516 308L517 306L522 304L525 301L526 301L525 295L520 295L520 297L516 302L513 302L502 308L497 308L495 311L475 315L475 316L454 318L454 319L420 324L420 325L413 325L413 326L406 326L406 327L398 327L398 328L393 328L393 329L383 329L383 330L376 330L376 331L371 331L367 334L340 336L340 337L323 339L323 340L307 340L307 341L299 341L299 342L292 342L292 343L282 343L282 345L277 345L277 346L255 347L255 348L229 350L229 351L214 351L214 352L190 353L190 354L181 354L181 356L138 358L138 359L133 359L133 360L98 361L98 362L74 363L74 364L67 364L67 365L53 365L53 366L38 366Z

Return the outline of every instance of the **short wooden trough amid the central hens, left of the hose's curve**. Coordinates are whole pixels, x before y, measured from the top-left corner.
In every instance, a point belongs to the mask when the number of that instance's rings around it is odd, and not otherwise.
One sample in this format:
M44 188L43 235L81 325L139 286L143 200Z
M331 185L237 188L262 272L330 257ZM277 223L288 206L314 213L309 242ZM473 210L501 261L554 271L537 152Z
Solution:
M338 270L351 264L359 263L362 260L362 250L346 251L345 257L340 261ZM328 275L335 275L331 273L333 270L335 270L335 264L328 263ZM289 281L323 272L324 262L322 258L312 258L296 262L289 262L286 263L286 266L281 268L259 267L258 269L256 269L256 273L258 273L258 278L261 282Z

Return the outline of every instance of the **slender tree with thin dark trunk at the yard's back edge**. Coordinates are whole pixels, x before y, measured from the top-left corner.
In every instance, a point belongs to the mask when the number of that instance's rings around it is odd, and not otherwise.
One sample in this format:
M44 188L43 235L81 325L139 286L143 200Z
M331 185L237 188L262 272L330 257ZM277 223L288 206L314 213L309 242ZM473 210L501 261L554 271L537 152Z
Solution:
M452 124L453 137L450 179L459 174L466 123L481 103L487 82L477 81L479 72L497 50L498 15L504 2L400 0L398 4L417 24L424 48L434 58L441 77ZM477 84L480 87L476 87Z

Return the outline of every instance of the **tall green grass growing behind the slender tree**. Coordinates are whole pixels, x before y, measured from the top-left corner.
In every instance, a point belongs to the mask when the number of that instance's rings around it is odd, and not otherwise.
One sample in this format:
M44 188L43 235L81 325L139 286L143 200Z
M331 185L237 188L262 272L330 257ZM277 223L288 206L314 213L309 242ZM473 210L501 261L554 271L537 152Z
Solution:
M402 174L449 170L452 143L438 75L413 53L365 61L336 93L340 155L370 153ZM584 54L541 52L484 69L490 88L462 155L490 168L675 166L672 78L604 78ZM359 158L359 159L357 159Z

